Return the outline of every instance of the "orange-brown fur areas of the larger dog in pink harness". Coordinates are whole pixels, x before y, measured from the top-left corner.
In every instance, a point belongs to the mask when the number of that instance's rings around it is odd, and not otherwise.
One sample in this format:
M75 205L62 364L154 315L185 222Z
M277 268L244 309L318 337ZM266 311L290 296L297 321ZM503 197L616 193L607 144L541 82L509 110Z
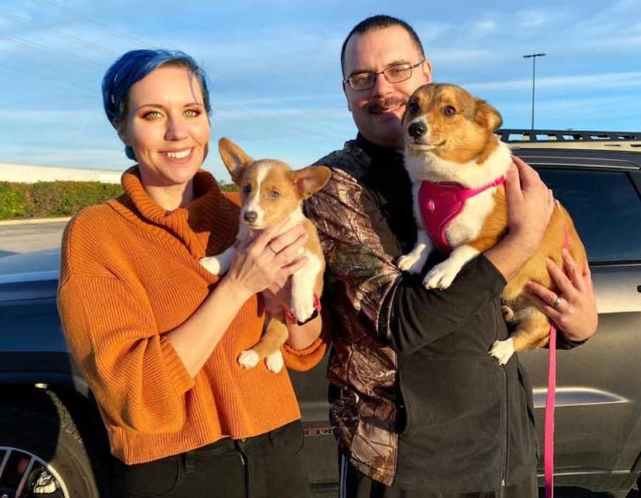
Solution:
M429 140L426 140L429 143L421 142L419 145L423 148L418 146L413 148L410 144L406 147L406 154L410 157L434 156L432 163L441 164L436 167L441 170L440 172L435 170L434 177L429 177L430 181L452 181L447 178L447 172L444 170L450 165L454 168L457 165L469 167L470 163L476 166L466 171L476 175L476 179L482 178L479 172L486 167L496 148L503 146L494 135L494 131L502 123L498 111L457 85L431 83L417 89L407 103L407 111L403 118L405 130L417 118L424 118L427 122ZM429 150L425 148L432 145L434 147ZM443 166L444 163L439 160L447 160L450 163ZM509 165L506 165L505 170L507 167ZM462 172L461 175L464 177L465 173ZM489 183L494 180L494 177L489 173L485 180ZM499 242L508 229L508 209L503 185L496 188L493 200L494 207L484 219L478 236L474 240L465 242L481 252ZM546 258L551 258L558 266L563 267L561 249L564 246L566 232L569 238L570 254L577 262L579 269L582 269L585 264L585 248L570 215L561 204L556 202L543 235L541 247L504 289L502 297L511 308L506 310L506 316L517 323L516 333L512 336L514 351L533 346L545 346L548 343L550 330L548 319L526 299L523 290L528 281L538 281L541 285L558 293L548 274Z

